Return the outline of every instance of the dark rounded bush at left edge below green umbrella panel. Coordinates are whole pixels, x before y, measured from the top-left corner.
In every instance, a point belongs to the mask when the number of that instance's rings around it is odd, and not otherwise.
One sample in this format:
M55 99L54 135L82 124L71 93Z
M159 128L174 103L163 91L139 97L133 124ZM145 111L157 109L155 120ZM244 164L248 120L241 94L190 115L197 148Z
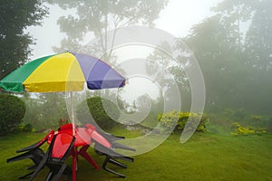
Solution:
M12 95L0 95L0 135L14 131L22 122L25 113L24 101Z

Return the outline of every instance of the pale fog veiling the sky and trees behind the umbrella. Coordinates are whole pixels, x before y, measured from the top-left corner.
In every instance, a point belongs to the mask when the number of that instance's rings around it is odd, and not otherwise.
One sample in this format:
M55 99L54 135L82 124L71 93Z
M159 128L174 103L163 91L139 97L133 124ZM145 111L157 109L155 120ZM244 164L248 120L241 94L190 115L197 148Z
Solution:
M145 119L171 109L205 112L228 128L234 121L251 124L259 116L258 126L270 128L271 3L49 1L43 4L48 14L41 15L42 23L23 28L35 44L25 43L24 57L14 64L3 62L1 77L48 54L83 52L127 78L120 90L90 93L117 97L125 111L148 106L152 116ZM7 37L0 35L1 40Z

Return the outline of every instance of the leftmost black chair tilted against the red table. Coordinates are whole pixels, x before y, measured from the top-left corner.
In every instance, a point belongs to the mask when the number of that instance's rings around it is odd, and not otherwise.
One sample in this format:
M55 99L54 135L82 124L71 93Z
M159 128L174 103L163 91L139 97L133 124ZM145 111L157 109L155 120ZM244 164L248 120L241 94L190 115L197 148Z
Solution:
M44 144L44 142L46 142L48 140L48 138L50 138L51 136L53 136L54 131L51 130L43 139L41 139L40 141L34 143L33 145L26 147L26 148L22 148L17 150L17 153L22 153L21 155L15 156L15 157L11 157L6 159L7 163L11 163L11 162L15 162L15 161L19 161L19 160L23 160L23 159L31 159L34 162L33 166L30 166L27 168L27 170L33 169L34 167L37 167L39 165L39 163L42 161L45 153L44 150L41 149L40 147ZM24 176L20 176L19 179L24 179L27 176L30 176L34 173L34 171L24 175Z

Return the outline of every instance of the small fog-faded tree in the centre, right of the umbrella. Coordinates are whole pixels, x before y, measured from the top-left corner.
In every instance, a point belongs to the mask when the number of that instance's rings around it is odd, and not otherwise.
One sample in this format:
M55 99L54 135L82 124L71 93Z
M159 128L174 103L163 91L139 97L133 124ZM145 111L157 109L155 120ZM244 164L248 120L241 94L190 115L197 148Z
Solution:
M179 102L176 90L178 87L182 99L182 110L190 108L189 79L185 69L189 66L191 56L186 55L189 49L183 43L179 42L178 44L177 48L168 42L161 42L160 46L147 57L149 62L146 63L146 71L160 85L159 98L152 102L152 106L159 105L159 108L165 103L163 100L168 100L171 102L171 105L167 106L168 109L177 108L178 105L174 102ZM179 52L173 53L177 49Z

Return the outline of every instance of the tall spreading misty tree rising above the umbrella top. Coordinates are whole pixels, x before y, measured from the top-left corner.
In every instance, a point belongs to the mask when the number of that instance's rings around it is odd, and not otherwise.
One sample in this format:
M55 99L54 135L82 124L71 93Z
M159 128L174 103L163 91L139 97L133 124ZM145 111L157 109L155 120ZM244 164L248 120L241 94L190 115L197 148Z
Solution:
M95 46L89 47L89 50L92 48L95 52L105 53L111 50L113 44L108 43L109 30L113 30L114 36L118 28L129 24L151 25L168 0L51 0L50 2L63 9L76 9L76 15L63 16L58 20L61 31L66 33L67 37L62 41L61 48L54 49L56 52L63 49L78 51L82 48L80 43L85 35L92 33L100 40ZM111 53L105 56L105 61L112 56Z

